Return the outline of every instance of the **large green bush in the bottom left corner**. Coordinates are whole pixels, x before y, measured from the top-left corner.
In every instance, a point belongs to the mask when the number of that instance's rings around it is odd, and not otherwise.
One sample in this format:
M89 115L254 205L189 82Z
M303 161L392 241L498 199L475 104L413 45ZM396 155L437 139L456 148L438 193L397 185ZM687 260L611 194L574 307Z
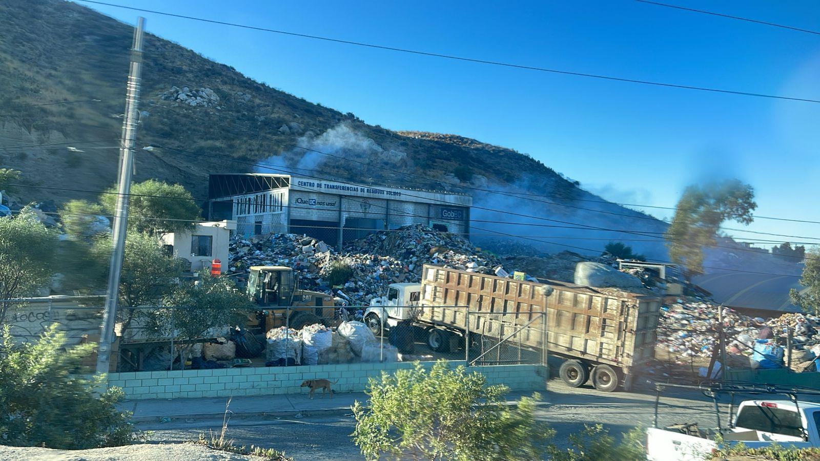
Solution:
M101 395L101 378L77 374L94 345L66 347L50 326L32 345L15 345L0 330L0 436L3 445L82 450L134 439L129 413L116 409L121 389Z

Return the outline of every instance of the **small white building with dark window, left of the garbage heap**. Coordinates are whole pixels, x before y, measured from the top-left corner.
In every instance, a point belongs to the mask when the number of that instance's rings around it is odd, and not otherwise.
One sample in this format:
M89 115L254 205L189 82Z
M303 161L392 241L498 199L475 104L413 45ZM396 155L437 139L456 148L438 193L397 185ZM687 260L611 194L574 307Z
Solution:
M191 262L193 272L210 268L214 259L220 260L221 272L225 272L231 230L236 230L236 221L198 222L194 230L162 235L162 244L175 257Z

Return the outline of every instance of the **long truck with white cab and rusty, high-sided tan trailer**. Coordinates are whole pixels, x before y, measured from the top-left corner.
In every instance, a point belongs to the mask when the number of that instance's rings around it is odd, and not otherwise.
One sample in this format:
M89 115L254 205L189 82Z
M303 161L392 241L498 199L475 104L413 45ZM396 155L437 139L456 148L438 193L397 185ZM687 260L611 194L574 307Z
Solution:
M478 335L505 340L514 334L523 347L561 358L558 374L567 385L591 379L596 389L611 392L628 390L632 371L654 358L660 306L652 294L425 265L420 284L389 285L364 320L377 334L412 322L438 352L471 347Z

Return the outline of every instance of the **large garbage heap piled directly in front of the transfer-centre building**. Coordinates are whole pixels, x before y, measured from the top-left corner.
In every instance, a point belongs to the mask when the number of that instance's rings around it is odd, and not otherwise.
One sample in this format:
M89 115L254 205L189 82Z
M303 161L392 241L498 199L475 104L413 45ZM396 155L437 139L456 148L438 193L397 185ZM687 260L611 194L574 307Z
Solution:
M426 226L405 226L353 240L341 253L304 235L236 237L230 242L228 270L247 273L252 266L292 267L303 290L330 293L335 289L343 304L368 305L384 285L421 281L424 264L493 274L501 261L458 235ZM351 274L347 281L334 280L339 267Z

